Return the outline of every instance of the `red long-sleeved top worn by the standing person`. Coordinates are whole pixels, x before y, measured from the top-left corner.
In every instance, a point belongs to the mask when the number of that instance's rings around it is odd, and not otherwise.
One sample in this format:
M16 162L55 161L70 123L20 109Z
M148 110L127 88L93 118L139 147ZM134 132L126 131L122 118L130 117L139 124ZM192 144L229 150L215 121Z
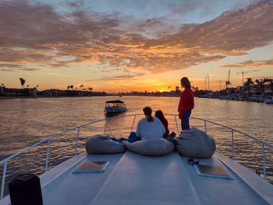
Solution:
M194 108L194 94L192 89L185 89L180 96L178 105L179 118L182 119L184 112Z

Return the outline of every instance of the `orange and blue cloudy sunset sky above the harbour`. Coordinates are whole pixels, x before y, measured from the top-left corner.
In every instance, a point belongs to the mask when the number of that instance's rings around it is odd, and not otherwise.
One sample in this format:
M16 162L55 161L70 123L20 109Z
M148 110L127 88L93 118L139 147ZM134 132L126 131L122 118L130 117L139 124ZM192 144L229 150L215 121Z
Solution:
M273 79L273 0L0 0L0 85L93 91ZM208 81L208 80L207 80ZM220 85L221 81L221 85ZM208 85L206 86L208 89Z

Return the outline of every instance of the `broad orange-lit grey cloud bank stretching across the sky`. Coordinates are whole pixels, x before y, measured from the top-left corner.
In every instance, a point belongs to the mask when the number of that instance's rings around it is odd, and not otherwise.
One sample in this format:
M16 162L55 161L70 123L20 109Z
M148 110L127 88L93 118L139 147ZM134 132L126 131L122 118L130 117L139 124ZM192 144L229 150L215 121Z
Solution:
M0 63L58 68L88 61L160 73L247 55L273 40L270 0L179 28L167 24L165 18L135 24L117 18L118 14L80 10L82 1L68 5L73 12L61 14L51 5L1 1ZM246 64L223 67L254 65Z

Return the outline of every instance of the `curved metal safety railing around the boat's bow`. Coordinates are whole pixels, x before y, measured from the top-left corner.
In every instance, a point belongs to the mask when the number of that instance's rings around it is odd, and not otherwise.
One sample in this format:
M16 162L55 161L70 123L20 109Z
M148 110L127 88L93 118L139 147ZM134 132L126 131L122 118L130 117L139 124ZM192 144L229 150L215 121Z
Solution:
M138 116L138 115L143 115L143 114L132 114L132 115L116 116L116 117L111 117L111 118L106 118L106 119L97 120L97 121L94 121L94 122L89 122L89 123L87 123L87 124L84 124L84 125L81 125L81 126L77 126L77 127L72 128L72 129L66 130L66 131L64 131L64 132L58 133L58 134L56 134L56 135L50 136L50 137L48 137L47 139L44 139L44 140L42 140L42 141L40 141L40 142L37 142L37 143L35 143L35 144L33 144L33 145L31 145L31 146L29 146L29 147L27 147L27 148L25 148L25 149L19 151L19 152L17 152L16 154L13 154L13 155L11 155L11 156L9 156L9 157L7 157L7 158L1 160L1 161L0 161L0 164L4 163L4 170L3 170L3 176L2 176L2 186L1 186L1 195L0 195L0 199L2 199L2 198L4 197L4 186L5 186L5 179L6 179L6 172L7 172L7 164L8 164L8 161L9 161L10 159L12 159L12 158L18 156L19 154L21 154L21 153L23 153L23 152L25 152L25 151L27 151L27 150L33 148L33 147L36 147L37 145L40 145L40 144L42 144L42 143L44 143L44 142L47 142L47 143L48 143L48 145L47 145L47 156L46 156L46 159L45 159L45 171L44 171L44 172L47 172L47 171L48 171L48 160L49 160L50 140L51 140L52 138L58 137L58 136L60 136L60 135L62 135L62 134L64 134L64 133L68 133L68 132L73 131L73 130L77 130L77 137L76 137L76 143L75 143L75 152L74 152L74 155L77 155L80 128L86 127L86 126L91 125L91 124L95 124L95 123L97 123L97 122L105 121L104 134L106 134L106 131L107 131L107 122L108 122L109 119L115 119L115 118L121 118L121 117L134 116L133 121L132 121L131 130L130 130L130 132L131 132L132 129L133 129L134 123L135 123L135 118L136 118L136 116ZM177 129L177 133L179 133L179 128L178 128L177 119L176 119L177 115L176 115L176 114L165 114L165 115L169 115L169 116L173 116L173 117L174 117L174 121L175 121L176 129ZM235 129L230 128L230 127L227 127L227 126L220 125L220 124L218 124L218 123L216 123L216 122L212 122L212 121L209 121L209 120L206 120L206 119L196 118L196 117L191 117L191 118L192 118L192 119L196 119L196 120L201 120L201 121L204 122L205 133L207 133L207 122L210 123L210 124L214 124L214 125L217 125L217 126L220 126L220 127L223 127L223 128L226 128L226 129L231 130L231 133L232 133L232 136L231 136L231 137L232 137L232 156L233 156L232 158L233 158L233 160L235 160L234 132L240 133L240 134L242 134L242 135L244 135L244 136L246 136L246 137L248 137L248 138L251 138L251 139L253 139L253 140L255 140L255 141L261 143L261 144L262 144L262 158L263 158L263 176L264 176L264 179L266 179L266 169L265 169L265 167L266 167L266 164L265 164L265 146L268 146L268 147L270 147L270 148L273 148L272 145L270 145L270 144L268 144L268 143L266 143L266 142L263 142L262 140L259 140L259 139L255 138L255 137L252 137L252 136L250 136L250 135L248 135L248 134L245 134L245 133L243 133L243 132L241 132L241 131L235 130Z

